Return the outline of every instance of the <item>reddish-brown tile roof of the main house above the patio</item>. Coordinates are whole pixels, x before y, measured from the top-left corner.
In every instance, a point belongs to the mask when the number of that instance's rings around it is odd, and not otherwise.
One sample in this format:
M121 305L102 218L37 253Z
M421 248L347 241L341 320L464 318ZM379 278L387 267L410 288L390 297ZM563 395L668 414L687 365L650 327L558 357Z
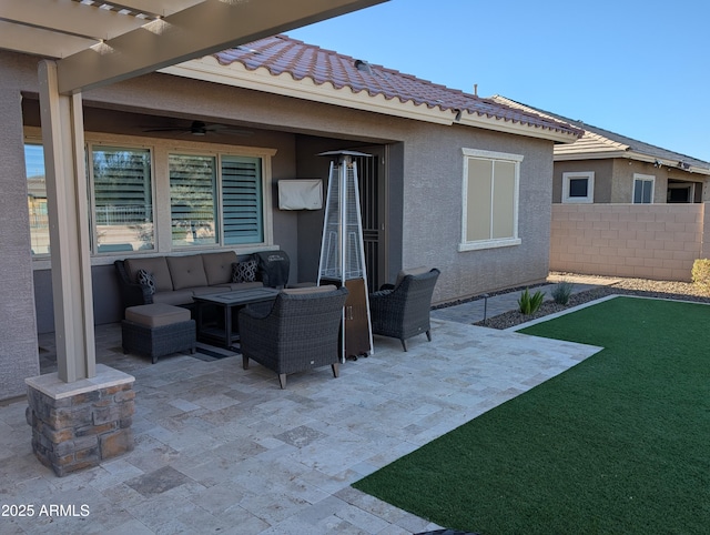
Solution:
M329 83L337 90L349 89L353 93L365 91L369 97L382 95L392 102L438 108L454 115L460 111L462 114L466 112L570 137L581 135L580 130L555 119L371 64L283 34L224 50L214 54L214 58L222 65L239 62L250 71L263 68L274 77L287 73L296 81L311 79L316 85Z

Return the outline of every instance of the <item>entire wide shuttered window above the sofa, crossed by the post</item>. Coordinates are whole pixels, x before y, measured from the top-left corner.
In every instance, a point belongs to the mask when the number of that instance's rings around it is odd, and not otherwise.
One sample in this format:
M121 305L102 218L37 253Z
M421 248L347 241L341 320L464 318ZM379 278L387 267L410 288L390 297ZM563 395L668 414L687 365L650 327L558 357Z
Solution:
M38 134L24 145L32 255L50 253L44 154ZM132 143L132 144L129 144ZM200 147L200 149L194 149ZM273 149L219 153L207 144L180 152L174 142L141 145L114 138L87 144L89 225L95 263L111 256L186 250L239 249L273 242L268 209ZM158 206L158 202L161 205ZM38 264L39 265L39 264Z

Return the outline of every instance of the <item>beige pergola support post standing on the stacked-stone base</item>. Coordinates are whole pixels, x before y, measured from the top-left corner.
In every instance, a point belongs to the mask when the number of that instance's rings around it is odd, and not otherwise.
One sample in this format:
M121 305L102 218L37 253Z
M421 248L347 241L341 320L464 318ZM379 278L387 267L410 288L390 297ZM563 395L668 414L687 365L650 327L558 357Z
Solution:
M39 65L58 375L95 376L89 202L81 93L59 93L57 64Z

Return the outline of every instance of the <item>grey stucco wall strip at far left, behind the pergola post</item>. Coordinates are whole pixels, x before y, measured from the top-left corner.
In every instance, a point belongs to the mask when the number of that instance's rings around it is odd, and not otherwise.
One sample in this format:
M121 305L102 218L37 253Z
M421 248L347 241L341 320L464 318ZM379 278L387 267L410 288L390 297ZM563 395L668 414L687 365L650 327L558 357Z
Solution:
M0 55L0 72L18 68ZM0 75L0 400L24 394L39 373L20 108L22 75Z

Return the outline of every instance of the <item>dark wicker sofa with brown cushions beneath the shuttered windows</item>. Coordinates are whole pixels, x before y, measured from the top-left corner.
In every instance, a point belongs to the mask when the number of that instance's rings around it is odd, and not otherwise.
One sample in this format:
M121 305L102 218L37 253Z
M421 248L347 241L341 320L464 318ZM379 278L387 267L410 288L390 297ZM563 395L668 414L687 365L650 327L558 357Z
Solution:
M233 264L248 261L256 259L224 251L186 256L136 256L116 260L114 266L124 307L151 303L190 306L195 295L263 286L258 271L254 281L233 282ZM141 270L151 275L152 285L139 283Z

